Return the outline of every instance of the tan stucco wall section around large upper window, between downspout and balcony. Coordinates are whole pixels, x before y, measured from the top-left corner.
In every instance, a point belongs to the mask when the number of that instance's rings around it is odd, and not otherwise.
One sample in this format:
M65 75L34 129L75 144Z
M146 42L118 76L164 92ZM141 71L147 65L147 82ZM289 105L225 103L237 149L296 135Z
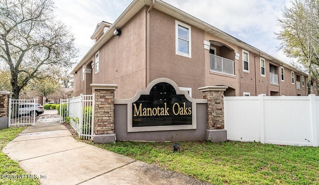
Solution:
M197 88L205 86L204 31L191 26L191 58L188 58L175 54L175 18L153 9L150 20L150 81L169 78L180 87L192 88L193 98L202 98Z

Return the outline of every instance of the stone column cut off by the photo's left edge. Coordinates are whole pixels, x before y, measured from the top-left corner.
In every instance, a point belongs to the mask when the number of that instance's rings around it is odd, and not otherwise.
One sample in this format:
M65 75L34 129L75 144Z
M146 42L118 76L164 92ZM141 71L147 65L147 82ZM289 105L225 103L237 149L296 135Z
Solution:
M13 93L0 91L0 129L8 127L9 98Z

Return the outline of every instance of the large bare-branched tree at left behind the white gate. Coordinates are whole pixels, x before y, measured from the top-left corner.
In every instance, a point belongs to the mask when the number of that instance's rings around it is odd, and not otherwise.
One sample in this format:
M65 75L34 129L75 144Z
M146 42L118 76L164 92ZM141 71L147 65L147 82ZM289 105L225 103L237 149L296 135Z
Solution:
M12 98L43 71L71 67L78 49L54 19L52 0L0 0L0 63L10 70Z

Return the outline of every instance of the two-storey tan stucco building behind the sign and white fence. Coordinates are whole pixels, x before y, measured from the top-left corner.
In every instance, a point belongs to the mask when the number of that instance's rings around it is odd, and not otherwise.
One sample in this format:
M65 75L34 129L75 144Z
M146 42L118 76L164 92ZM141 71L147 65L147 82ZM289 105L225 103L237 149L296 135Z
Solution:
M318 80L161 0L133 0L72 70L74 96L90 84L117 84L115 98L132 98L157 78L169 78L193 98L199 87L228 86L225 96L318 95Z

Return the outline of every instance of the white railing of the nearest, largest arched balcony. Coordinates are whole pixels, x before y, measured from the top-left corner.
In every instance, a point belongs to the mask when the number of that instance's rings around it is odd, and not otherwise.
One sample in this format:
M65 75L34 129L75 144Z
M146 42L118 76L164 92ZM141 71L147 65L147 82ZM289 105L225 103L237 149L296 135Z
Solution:
M234 61L214 54L209 54L210 70L214 72L234 75Z

